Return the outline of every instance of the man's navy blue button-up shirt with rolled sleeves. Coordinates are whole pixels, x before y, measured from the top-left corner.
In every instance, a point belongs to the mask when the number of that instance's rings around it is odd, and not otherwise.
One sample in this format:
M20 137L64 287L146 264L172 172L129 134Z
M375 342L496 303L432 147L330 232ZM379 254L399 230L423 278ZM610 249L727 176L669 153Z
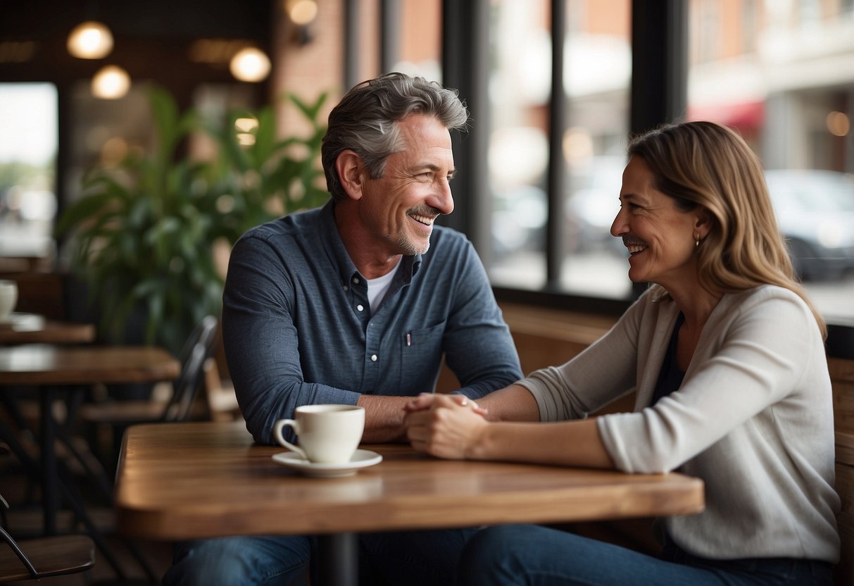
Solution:
M273 423L300 405L430 392L442 355L463 385L457 392L474 399L521 378L510 331L465 236L434 226L430 250L405 256L371 308L333 206L258 226L231 252L223 343L256 441L273 442Z

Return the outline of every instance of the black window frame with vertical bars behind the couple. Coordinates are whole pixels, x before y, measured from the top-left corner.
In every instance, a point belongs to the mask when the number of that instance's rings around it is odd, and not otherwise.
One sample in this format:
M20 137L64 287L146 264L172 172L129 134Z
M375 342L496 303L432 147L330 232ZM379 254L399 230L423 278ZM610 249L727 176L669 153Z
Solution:
M350 2L352 0L348 0ZM381 4L383 23L394 10ZM684 0L632 0L632 75L629 90L629 132L644 132L683 116L687 109L688 3ZM489 0L442 0L442 83L456 88L471 112L488 113ZM564 38L566 0L550 0L552 38ZM391 12L389 12L391 11ZM384 44L388 47L389 39ZM383 60L383 65L388 63ZM647 284L635 283L633 298L615 300L577 296L559 290L561 227L564 186L560 137L566 114L563 96L563 47L552 47L552 95L549 100L549 171L547 220L547 283L541 290L494 286L499 302L515 302L573 312L617 316L629 308ZM350 73L352 74L352 73ZM348 73L345 73L345 77ZM555 91L557 88L557 91ZM484 123L487 122L487 123ZM491 200L485 153L488 116L475 117L465 134L452 137L458 172L454 179L454 213L442 224L464 232L474 243L484 265L491 264L489 244ZM828 324L828 356L854 358L854 324Z

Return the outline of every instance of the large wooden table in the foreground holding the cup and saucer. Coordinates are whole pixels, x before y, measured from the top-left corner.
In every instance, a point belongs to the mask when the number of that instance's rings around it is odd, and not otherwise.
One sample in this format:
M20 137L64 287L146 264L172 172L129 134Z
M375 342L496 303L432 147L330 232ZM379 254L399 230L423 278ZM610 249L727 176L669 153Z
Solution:
M325 553L337 564L333 579L353 583L358 531L683 515L704 507L702 481L680 474L437 460L403 444L363 446L383 462L353 477L307 478L274 462L284 448L254 445L244 425L131 427L115 489L120 532L155 540L328 535L321 548L349 554Z

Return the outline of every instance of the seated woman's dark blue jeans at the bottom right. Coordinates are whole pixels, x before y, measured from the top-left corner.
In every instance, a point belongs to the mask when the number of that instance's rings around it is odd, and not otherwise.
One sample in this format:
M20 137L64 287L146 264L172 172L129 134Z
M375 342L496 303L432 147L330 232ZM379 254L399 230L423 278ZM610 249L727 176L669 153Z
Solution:
M460 586L613 584L614 586L746 586L833 583L833 566L810 560L704 560L675 546L658 558L536 525L480 531L459 561Z

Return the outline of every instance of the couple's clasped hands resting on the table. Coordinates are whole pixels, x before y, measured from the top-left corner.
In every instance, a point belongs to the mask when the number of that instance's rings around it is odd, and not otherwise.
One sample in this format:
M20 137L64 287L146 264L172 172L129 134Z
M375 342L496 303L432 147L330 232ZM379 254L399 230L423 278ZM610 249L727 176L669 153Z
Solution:
M421 393L403 407L407 439L418 452L462 460L475 448L488 422L487 410L462 395Z

